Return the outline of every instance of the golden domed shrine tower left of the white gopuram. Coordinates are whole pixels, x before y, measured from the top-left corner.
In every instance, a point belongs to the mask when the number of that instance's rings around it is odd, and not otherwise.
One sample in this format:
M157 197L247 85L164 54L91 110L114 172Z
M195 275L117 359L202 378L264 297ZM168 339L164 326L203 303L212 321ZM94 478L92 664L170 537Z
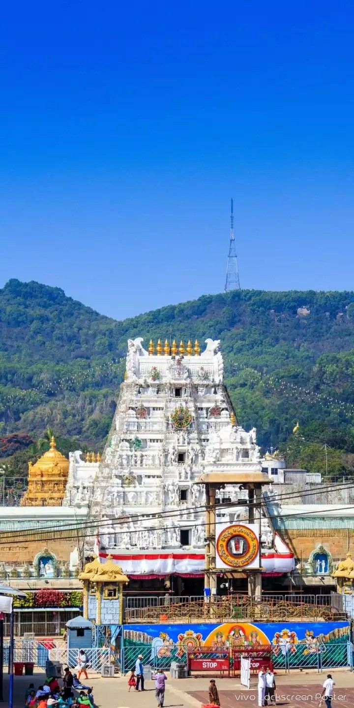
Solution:
M28 489L21 506L62 506L68 472L69 460L57 450L53 435L50 450L35 464L28 462Z

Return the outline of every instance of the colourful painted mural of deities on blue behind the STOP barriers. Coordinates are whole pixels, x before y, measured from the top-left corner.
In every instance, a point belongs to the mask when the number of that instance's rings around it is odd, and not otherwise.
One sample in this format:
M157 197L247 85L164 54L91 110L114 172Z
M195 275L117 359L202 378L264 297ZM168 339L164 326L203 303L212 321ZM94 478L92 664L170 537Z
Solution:
M212 652L233 647L273 646L273 656L280 666L285 658L292 666L312 666L317 654L338 645L346 655L349 622L224 622L224 624L129 624L123 629L125 647L144 647L144 661L167 666L169 660L184 659L186 651L201 646ZM335 647L334 647L335 648Z

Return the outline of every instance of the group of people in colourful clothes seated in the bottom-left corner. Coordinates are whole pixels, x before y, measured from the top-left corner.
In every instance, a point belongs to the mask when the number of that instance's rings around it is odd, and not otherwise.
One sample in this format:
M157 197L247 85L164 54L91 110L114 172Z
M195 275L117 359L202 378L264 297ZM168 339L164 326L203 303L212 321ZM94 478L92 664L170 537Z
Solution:
M92 687L83 685L76 673L72 674L68 666L64 669L63 687L60 687L57 678L52 677L47 678L37 690L34 684L30 683L25 692L25 708L71 708L72 706L95 708L95 702Z

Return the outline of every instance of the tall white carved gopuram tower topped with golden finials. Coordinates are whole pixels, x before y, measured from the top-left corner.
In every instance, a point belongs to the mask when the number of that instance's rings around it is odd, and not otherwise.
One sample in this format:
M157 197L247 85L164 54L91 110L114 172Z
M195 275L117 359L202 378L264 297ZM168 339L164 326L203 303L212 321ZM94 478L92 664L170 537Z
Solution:
M202 576L205 487L198 479L211 471L232 473L232 484L217 491L217 518L248 518L248 491L241 486L245 475L261 476L256 429L246 433L236 423L219 341L207 339L202 353L198 341L170 347L166 340L163 347L159 340L156 349L150 341L148 350L142 342L128 341L125 381L90 490L89 519L93 527L99 520L101 555L111 554L130 577ZM235 506L223 510L222 501ZM266 519L262 532L265 547L273 548ZM86 554L92 545L89 539Z

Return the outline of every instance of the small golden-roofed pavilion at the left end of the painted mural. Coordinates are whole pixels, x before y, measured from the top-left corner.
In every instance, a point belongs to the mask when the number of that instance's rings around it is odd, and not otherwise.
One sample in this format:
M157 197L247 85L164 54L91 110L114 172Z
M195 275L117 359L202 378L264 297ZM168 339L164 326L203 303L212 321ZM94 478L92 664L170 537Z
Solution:
M96 624L122 624L123 586L129 578L108 556L105 563L95 558L79 575L84 585L84 618Z

